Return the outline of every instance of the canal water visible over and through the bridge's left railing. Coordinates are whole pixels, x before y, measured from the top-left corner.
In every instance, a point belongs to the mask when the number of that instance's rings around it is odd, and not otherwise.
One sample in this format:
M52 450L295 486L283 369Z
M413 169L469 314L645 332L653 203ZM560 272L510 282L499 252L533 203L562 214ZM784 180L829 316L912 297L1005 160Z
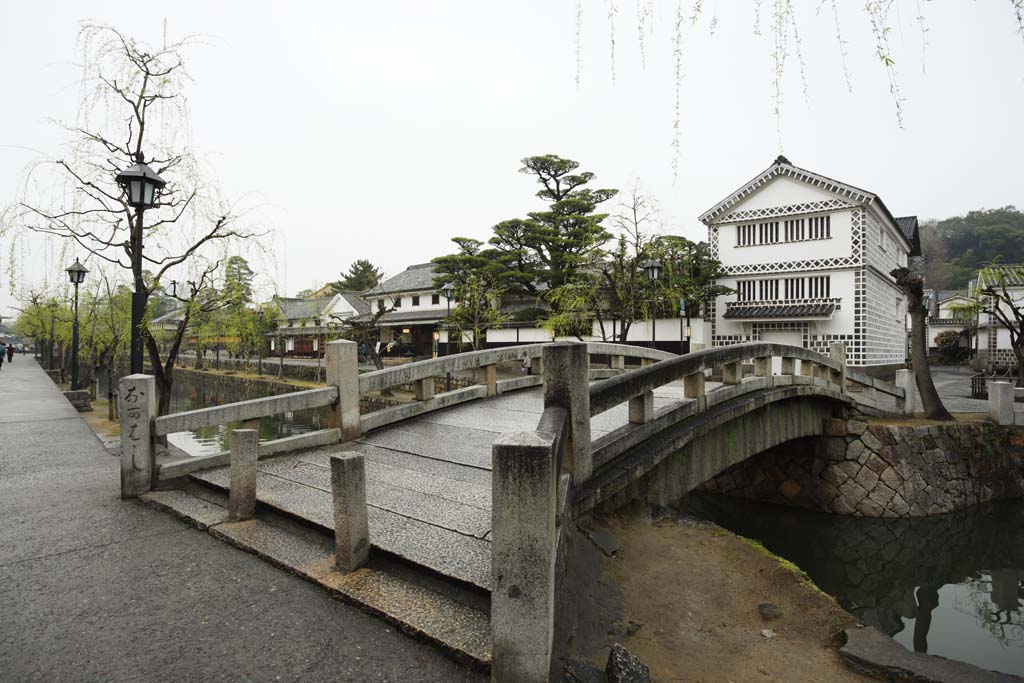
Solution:
M239 400L250 398L261 398L269 395L260 392L258 386L254 386L250 395L242 395L239 391L227 391L221 387L208 386L210 383L193 380L190 376L179 375L174 380L174 395L171 397L171 412L180 413L191 411L198 408L209 408L211 405L222 405ZM259 438L261 441L283 438L294 434L316 431L321 429L321 421L325 415L325 409L311 411L301 411L298 413L285 413L262 418L259 421ZM178 432L168 436L168 440L177 447L194 456L206 456L220 451L227 451L231 447L231 430L241 429L250 425L241 422L231 422L216 427L204 427L188 432Z

